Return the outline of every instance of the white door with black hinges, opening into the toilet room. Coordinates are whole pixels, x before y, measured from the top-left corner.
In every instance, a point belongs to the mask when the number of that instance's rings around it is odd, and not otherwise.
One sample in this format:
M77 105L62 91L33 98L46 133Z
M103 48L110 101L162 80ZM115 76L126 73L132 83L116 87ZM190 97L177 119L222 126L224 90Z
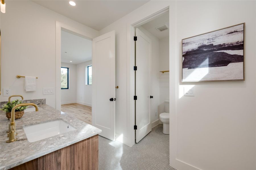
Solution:
M151 131L150 93L151 93L151 40L136 28L136 143Z

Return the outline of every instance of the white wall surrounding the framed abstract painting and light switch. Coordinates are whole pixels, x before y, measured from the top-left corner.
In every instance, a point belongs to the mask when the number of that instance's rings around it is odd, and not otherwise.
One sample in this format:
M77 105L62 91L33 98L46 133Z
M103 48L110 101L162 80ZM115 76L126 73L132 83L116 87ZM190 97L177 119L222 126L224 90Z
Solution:
M181 39L245 22L245 81L190 83L184 97L176 79L177 159L201 169L255 169L255 2L177 2L177 58Z

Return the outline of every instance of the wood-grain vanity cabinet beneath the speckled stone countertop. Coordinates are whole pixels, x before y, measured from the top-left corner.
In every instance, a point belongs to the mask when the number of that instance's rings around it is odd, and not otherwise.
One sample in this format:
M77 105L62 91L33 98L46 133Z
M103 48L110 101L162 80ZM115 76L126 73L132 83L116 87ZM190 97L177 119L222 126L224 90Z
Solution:
M98 135L56 150L11 170L97 170Z

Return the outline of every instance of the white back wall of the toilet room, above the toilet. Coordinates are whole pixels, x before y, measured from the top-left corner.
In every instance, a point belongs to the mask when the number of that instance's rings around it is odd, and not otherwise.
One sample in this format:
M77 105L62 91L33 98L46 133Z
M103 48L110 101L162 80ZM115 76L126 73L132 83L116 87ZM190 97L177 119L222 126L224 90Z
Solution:
M160 39L159 71L169 70L169 37ZM159 114L165 112L164 101L169 100L169 72L159 76Z

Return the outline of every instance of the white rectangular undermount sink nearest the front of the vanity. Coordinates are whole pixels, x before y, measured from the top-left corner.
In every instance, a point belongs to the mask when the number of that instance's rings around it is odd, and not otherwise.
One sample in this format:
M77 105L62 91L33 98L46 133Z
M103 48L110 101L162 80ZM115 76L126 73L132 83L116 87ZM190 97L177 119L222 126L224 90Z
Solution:
M34 124L31 126L23 126L23 129L29 142L40 141L48 137L75 130L75 128L63 120L54 120L51 122Z

